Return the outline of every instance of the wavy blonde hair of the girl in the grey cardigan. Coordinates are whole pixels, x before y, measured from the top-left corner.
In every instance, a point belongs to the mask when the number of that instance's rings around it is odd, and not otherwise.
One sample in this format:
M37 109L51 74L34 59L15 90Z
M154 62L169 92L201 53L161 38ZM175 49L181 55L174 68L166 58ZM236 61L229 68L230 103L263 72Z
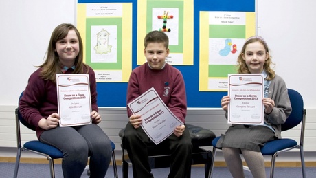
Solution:
M258 41L259 43L262 43L266 53L269 53L269 47L267 43L264 41L264 38L262 38L261 36L251 36L250 38L248 38L237 58L238 74L250 74L248 66L246 65L245 60L243 60L242 55L245 54L247 45L249 45L250 43L254 43L256 41ZM273 70L271 65L274 65L274 63L272 63L272 57L271 55L269 55L263 65L263 69L268 74L266 80L272 80L275 77L275 71Z

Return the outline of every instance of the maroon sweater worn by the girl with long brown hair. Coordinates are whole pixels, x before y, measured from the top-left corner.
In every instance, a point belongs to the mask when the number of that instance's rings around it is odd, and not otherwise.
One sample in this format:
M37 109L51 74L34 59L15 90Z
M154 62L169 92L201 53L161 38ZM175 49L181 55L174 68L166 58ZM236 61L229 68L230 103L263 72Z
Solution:
M56 83L50 80L43 80L43 78L39 76L40 72L41 68L31 74L19 102L22 117L25 118L28 123L36 126L38 139L44 131L38 126L39 120L48 118L52 113L58 113ZM66 74L71 73L72 71L66 71ZM92 111L98 111L95 73L91 67L89 68L89 80Z

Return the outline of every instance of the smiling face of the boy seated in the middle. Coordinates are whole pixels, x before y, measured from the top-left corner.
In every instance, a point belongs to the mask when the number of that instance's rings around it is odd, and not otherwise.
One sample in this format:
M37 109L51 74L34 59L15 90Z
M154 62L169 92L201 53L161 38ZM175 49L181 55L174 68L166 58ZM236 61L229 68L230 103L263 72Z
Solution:
M164 43L148 43L144 49L144 55L150 67L155 70L161 69L165 64L169 48L166 49Z

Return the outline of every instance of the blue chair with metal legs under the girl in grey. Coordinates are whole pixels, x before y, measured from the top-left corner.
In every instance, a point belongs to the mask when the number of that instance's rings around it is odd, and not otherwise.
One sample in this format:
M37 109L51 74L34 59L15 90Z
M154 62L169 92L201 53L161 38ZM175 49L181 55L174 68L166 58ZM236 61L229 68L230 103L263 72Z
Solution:
M300 143L290 138L282 138L278 140L272 140L264 144L261 148L262 155L271 155L271 169L270 169L270 177L274 175L274 167L275 167L275 159L279 153L284 151L289 151L292 149L300 149L300 157L301 157L301 164L302 164L302 175L306 177L305 172L305 162L304 162L304 131L305 131L305 117L306 117L306 109L304 109L304 102L303 98L297 91L293 89L288 89L289 98L291 101L292 113L289 115L289 118L286 119L286 122L282 124L281 130L287 131L292 129L293 127L297 126L301 123L301 131L300 131ZM216 152L216 144L220 137L216 137L212 141L213 146L213 153L212 157L215 157ZM221 148L218 148L221 149ZM212 159L212 164L210 168L209 177L212 177L212 170L214 168L214 159Z

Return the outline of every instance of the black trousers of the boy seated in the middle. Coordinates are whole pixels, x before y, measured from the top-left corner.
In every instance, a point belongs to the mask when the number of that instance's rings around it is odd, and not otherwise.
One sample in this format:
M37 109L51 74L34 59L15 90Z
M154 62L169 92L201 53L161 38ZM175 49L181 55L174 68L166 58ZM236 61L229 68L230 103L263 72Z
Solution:
M133 177L153 177L153 174L150 173L151 169L148 162L147 150L147 146L151 141L142 127L135 129L132 124L128 122L123 139L127 147L128 157L133 164ZM192 160L192 143L189 130L185 129L181 137L172 134L160 144L168 146L171 151L171 166L168 177L186 177L189 173L188 170L191 169Z

